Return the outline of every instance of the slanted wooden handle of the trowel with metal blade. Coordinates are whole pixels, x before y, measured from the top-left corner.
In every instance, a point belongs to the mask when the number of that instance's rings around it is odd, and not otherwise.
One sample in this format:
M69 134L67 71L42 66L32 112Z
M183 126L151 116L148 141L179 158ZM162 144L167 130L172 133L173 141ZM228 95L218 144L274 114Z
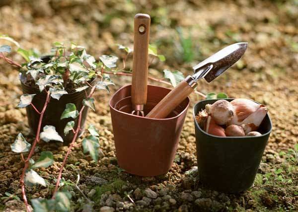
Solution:
M166 118L183 100L191 93L188 83L181 81L170 93L168 93L153 109L146 115L149 118Z

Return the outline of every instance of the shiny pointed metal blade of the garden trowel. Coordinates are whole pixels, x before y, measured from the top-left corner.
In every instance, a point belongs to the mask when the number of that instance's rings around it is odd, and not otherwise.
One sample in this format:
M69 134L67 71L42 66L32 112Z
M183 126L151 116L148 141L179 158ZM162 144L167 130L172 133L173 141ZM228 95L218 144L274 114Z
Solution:
M195 80L204 78L208 83L220 76L225 70L236 63L244 54L247 43L234 43L210 56L198 65L194 66Z

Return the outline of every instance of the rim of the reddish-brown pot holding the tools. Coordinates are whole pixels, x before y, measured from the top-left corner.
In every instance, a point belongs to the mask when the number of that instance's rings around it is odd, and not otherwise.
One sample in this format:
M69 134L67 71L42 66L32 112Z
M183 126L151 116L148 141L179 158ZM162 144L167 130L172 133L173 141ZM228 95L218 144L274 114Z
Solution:
M112 99L114 98L114 96L115 96L116 94L118 94L118 92L120 92L120 90L122 90L122 89L124 89L124 88L126 88L126 87L129 87L129 86L131 86L131 84L122 86L122 87L121 87L120 89L118 89L118 91L116 91L115 94L111 97L111 99L110 99L110 101L109 101L109 106L110 106L110 108L112 108L114 111L120 112L120 113L125 114L125 115L132 115L132 116L136 116L136 117L144 118L144 119L148 119L148 120L172 120L172 119L176 119L176 118L178 118L179 116L181 116L181 114L184 113L185 110L188 109L189 104L190 104L190 99L189 99L189 97L187 97L187 98L186 98L187 101L188 101L187 106L185 106L185 108L184 108L178 115L173 116L173 117L170 117L170 118L149 118L149 117L145 117L145 116L139 116L139 115L134 115L134 114L126 113L126 112L120 111L120 110L118 110L118 109L115 109L115 107L111 105L111 101L112 101ZM161 86L154 86L154 85L148 85L148 86L158 87L158 88L164 88L164 87L161 87ZM164 89L168 89L168 88L164 88ZM170 89L169 89L169 90L170 90ZM124 98L123 98L123 99L124 99ZM121 99L121 100L123 100L123 99ZM119 101L121 101L121 100L119 100ZM118 102L119 102L119 101L118 101ZM184 101L184 100L183 100L183 101ZM118 102L117 102L117 103L118 103ZM117 103L116 103L116 104L117 104ZM115 105L116 105L116 104L115 104Z

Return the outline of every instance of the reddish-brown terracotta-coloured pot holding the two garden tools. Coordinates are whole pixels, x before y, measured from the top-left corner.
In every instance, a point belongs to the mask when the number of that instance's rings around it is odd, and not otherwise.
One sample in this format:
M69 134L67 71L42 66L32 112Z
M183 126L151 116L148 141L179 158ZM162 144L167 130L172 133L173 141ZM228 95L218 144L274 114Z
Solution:
M145 115L170 91L149 85ZM168 172L175 158L188 106L189 98L163 119L132 115L131 85L119 89L110 100L119 166L140 176L156 176Z

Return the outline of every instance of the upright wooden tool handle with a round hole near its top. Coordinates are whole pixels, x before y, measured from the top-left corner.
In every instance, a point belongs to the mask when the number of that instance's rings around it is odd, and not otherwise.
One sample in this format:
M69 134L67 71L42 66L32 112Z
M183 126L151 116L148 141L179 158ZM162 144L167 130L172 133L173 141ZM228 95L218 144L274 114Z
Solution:
M145 105L147 102L150 16L136 14L134 22L132 104Z

